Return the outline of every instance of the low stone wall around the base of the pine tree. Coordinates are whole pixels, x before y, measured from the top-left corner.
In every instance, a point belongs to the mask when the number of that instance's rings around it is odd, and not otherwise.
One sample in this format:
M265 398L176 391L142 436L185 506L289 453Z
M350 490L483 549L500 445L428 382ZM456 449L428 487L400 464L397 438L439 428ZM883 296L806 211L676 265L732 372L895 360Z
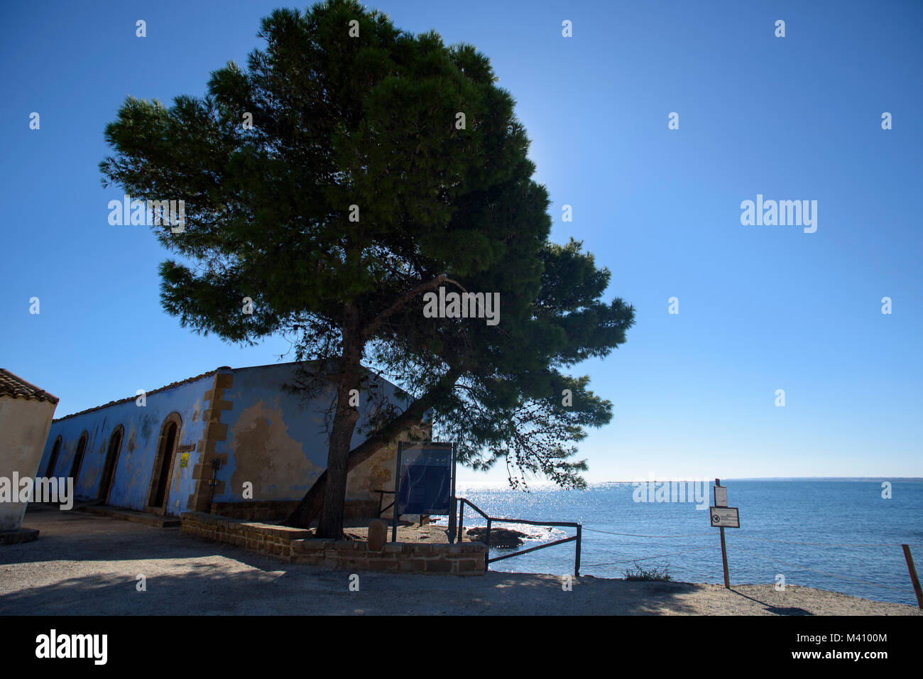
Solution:
M201 512L181 516L181 530L269 554L292 564L322 565L348 571L432 573L480 576L485 573L487 546L483 542L417 544L386 542L381 550L357 540L315 540L303 528L261 524Z

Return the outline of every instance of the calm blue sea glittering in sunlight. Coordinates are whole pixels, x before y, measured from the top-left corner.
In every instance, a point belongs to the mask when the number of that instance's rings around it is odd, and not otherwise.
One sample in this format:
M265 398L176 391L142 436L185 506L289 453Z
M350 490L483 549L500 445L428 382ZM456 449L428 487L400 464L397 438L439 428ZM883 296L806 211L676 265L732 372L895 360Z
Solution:
M657 491L661 500L667 492L650 481L592 483L580 491L543 485L529 492L460 483L456 495L490 516L580 523L581 575L624 577L641 568L680 582L723 583L720 531L708 509L713 481L698 483L698 492L685 484L685 502L658 502ZM732 586L799 585L917 605L901 545L910 545L923 576L923 479L723 479L722 485L740 523L725 528ZM672 491L679 500L678 486ZM465 530L485 525L465 508ZM493 525L531 537L518 548L492 549L490 558L576 533L571 527ZM574 545L497 561L490 569L573 574Z

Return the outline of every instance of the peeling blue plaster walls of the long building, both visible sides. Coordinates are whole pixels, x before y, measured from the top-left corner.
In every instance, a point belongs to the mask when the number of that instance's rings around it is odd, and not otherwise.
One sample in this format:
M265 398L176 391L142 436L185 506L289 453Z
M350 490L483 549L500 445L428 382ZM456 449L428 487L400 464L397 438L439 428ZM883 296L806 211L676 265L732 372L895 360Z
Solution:
M215 444L215 455L227 455L227 462L216 475L216 480L222 483L216 487L212 501L301 500L327 468L324 414L332 392L318 396L310 404L303 404L300 396L284 391L283 385L294 382L297 377L294 363L220 372L232 375L233 382L221 396L222 402L231 405L231 409L220 412L220 425L221 428L227 427L227 433L223 440L220 436L210 439ZM377 380L379 389L402 410L406 402L398 395L396 387L381 378ZM193 469L203 453L198 450L198 443L206 438L207 423L202 421L203 414L208 412L206 408L215 407L214 403L209 404L206 400L214 381L215 376L208 375L148 394L147 406L137 406L131 400L54 422L45 443L38 475L44 476L54 440L60 434L62 445L53 476L66 477L77 452L80 434L86 430L89 439L75 490L80 500L96 499L110 437L115 428L122 425L125 434L114 469L109 504L143 511L148 502L162 424L168 415L176 412L182 418L178 445L197 445L197 450L189 453L188 465L184 468L179 467L182 454L177 450L166 511L173 515L187 511L189 498L197 490L197 480L192 478ZM352 446L366 440L363 432L368 427L366 407L366 394L360 394L361 417ZM375 490L393 490L395 452L396 445L388 446L350 473L347 501L358 503L356 506L373 507L378 504ZM210 477L209 467L201 482L207 482ZM245 481L253 484L252 498L243 497ZM390 503L390 498L386 496L387 503Z

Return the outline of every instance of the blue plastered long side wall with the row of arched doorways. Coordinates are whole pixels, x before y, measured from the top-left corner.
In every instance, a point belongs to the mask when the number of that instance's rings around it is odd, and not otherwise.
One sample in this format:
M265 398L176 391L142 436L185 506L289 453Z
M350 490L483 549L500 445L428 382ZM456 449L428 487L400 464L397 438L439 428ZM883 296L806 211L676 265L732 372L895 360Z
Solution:
M80 434L86 430L89 439L75 484L75 494L79 500L96 499L102 481L102 467L109 439L115 428L122 425L125 427L125 435L114 469L109 504L144 510L148 502L151 472L163 420L172 412L178 413L183 422L177 446L198 443L203 430L202 399L213 381L214 376L209 375L156 394L148 394L146 406L138 406L135 400L131 400L102 407L74 418L55 421L45 442L37 475L44 476L54 440L60 434L61 450L52 475L66 477L77 453ZM189 453L188 466L184 468L179 467L181 455L179 450L174 455L173 481L166 504L167 513L174 515L186 511L189 495L195 490L192 469L198 462L199 451Z

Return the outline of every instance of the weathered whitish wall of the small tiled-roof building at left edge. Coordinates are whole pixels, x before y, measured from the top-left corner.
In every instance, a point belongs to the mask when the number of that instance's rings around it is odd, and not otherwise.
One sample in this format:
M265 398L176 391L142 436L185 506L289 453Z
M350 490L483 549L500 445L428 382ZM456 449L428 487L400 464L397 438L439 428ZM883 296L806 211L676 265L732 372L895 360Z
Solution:
M56 404L0 395L0 477L35 478ZM14 488L18 497L18 488ZM0 502L0 530L16 530L27 503Z

